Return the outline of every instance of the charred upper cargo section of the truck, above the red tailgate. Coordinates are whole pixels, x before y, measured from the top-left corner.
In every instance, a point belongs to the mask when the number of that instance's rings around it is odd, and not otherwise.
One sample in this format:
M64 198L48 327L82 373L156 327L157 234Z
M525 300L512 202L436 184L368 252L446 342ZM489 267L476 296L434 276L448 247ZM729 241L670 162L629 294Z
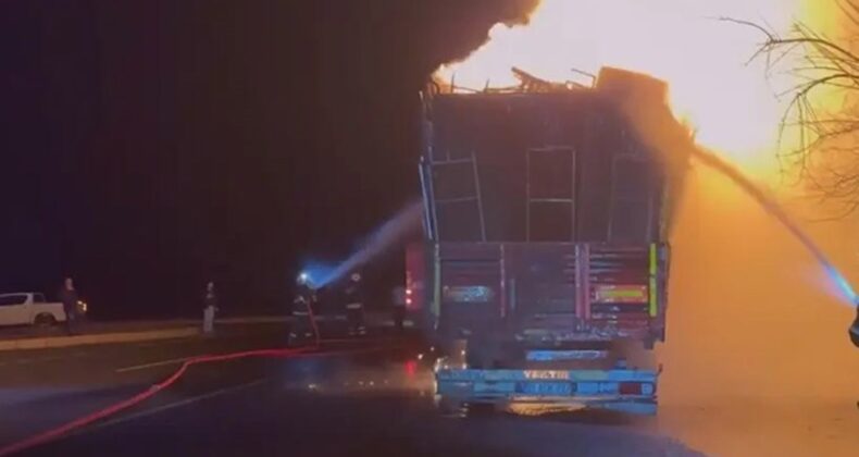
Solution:
M624 112L628 100L664 112L664 99L663 83L619 70L603 70L595 88L432 96L422 164L430 238L664 240L670 180Z

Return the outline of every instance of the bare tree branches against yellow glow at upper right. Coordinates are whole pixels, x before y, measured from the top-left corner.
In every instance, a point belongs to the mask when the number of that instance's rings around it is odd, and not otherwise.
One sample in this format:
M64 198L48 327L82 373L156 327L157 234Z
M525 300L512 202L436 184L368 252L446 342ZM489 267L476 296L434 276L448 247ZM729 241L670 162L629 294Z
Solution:
M841 0L838 8L859 25L859 1ZM789 171L822 199L843 203L838 218L859 210L859 110L847 104L829 112L833 107L821 103L825 97L859 100L859 55L802 23L781 36L754 22L719 20L759 32L763 40L749 62L763 60L768 76L786 66L780 74L796 82L777 95L786 100L779 129L782 172ZM797 144L787 141L788 133Z

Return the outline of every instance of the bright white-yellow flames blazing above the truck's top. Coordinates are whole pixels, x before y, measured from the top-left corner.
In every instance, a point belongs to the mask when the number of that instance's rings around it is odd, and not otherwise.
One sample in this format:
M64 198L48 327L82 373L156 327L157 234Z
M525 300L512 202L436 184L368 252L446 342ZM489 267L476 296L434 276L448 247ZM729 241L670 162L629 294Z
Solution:
M779 140L785 75L768 76L765 60L749 59L759 30L720 17L765 24L786 33L802 0L543 0L527 26L496 25L490 40L438 76L457 86L515 85L510 69L541 78L578 81L572 69L603 65L649 73L671 85L675 113L699 143L746 170L771 165Z

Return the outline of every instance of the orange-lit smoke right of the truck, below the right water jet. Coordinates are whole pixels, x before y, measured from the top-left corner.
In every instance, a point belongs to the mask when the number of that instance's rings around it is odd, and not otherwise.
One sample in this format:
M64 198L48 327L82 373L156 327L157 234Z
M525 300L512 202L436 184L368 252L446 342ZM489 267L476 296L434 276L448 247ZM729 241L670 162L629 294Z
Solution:
M809 446L812 428L820 442L827 427L856 430L856 313L776 218L695 165L671 239L659 428L712 455L814 455L790 446Z

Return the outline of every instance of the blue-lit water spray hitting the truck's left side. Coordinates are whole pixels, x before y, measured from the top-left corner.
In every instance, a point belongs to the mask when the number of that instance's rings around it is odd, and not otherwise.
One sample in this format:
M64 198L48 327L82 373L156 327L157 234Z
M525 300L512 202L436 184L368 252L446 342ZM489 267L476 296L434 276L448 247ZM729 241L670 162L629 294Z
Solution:
M339 281L415 233L421 225L421 201L412 202L368 235L361 247L346 260L337 264L310 262L304 265L304 272L315 287Z

